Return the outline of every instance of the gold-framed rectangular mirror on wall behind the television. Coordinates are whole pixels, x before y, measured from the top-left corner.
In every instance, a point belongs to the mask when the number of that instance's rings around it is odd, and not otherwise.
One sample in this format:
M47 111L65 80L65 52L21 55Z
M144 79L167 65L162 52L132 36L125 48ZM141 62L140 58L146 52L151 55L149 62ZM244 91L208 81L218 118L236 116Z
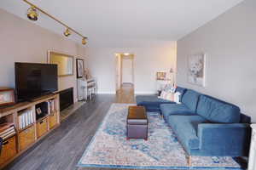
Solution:
M59 77L73 76L73 59L72 55L48 52L48 63L58 65Z

